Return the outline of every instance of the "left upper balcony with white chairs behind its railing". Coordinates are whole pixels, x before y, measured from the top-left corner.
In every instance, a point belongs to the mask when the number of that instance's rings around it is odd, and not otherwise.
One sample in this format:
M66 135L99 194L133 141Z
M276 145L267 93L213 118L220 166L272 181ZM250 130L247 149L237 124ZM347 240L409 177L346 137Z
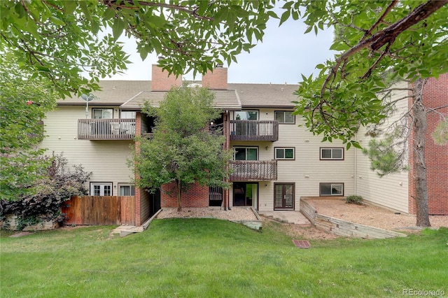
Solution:
M80 140L132 140L135 119L79 119Z

